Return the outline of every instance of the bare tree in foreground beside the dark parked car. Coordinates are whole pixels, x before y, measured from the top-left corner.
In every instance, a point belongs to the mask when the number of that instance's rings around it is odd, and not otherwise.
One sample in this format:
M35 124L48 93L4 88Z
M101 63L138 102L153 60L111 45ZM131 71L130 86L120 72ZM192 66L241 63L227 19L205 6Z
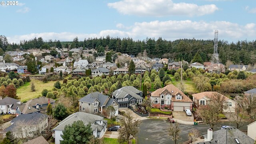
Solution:
M130 113L124 114L119 120L122 127L119 130L118 142L131 144L132 138L139 132L141 122L134 119Z

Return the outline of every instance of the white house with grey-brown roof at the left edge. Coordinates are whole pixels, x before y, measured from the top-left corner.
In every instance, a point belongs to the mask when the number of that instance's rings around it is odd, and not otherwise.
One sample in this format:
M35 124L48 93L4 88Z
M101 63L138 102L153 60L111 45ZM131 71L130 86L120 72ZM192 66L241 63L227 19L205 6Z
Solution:
M16 114L17 106L20 106L20 100L16 100L14 98L5 97L2 99L0 97L0 114Z

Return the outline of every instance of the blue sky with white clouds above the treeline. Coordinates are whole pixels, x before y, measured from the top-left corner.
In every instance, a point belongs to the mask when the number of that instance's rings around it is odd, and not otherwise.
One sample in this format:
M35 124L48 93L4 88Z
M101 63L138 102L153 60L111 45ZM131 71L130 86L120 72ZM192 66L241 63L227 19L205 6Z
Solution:
M256 40L256 0L18 0L0 5L0 35L19 43L95 37Z

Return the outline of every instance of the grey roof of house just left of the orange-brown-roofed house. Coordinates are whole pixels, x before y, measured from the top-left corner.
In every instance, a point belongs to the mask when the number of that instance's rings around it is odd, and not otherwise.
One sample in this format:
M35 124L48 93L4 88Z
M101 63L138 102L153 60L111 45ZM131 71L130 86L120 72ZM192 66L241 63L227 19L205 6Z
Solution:
M116 98L125 98L126 96L130 95L137 100L143 99L140 95L140 90L134 88L133 86L124 86L122 88L119 88L118 90L115 90L112 93L112 96L115 96Z

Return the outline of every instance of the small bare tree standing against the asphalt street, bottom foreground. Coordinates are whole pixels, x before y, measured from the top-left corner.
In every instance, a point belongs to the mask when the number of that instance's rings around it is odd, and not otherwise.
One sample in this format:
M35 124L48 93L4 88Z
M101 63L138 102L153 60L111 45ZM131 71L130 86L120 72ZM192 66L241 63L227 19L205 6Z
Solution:
M178 122L176 122L175 124L170 123L170 126L168 127L167 130L168 130L168 135L174 141L174 144L176 144L178 140L181 140L180 138L181 129L179 128Z

